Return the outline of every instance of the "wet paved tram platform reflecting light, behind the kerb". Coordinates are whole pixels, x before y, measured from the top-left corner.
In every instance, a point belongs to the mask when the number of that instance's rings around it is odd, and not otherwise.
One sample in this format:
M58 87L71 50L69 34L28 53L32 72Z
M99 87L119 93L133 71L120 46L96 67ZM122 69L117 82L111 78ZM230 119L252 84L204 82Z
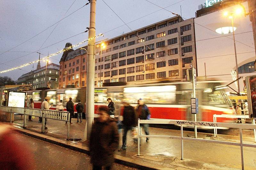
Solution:
M70 125L70 138L83 138L85 122L77 124L76 119L72 119L72 123ZM23 120L15 120L14 124L23 125ZM66 140L67 125L65 122L48 119L47 127L47 133L40 134L41 124L36 118L33 122L27 122L26 130L21 130L30 133L31 136L37 136L37 138L42 135L41 139L52 143L68 144L68 147L72 145L72 147L80 149L81 152L88 152L88 143ZM149 131L151 135L180 136L180 131L177 130L150 128ZM184 137L192 137L194 133L184 131L183 135ZM218 135L218 138L214 138L211 133L198 133L197 136L204 139L239 142L239 136L236 135ZM255 144L254 136L245 135L243 140L246 143ZM120 147L121 145L122 134L120 134ZM184 141L184 160L180 160L180 140L151 138L149 142L146 142L146 139L142 138L140 154L137 156L137 144L133 143L131 135L128 133L127 150L116 152L116 159L117 162L119 161L118 163L126 163L128 166L131 164L137 165L133 166L136 168L141 166L139 169L144 169L145 165L152 169L241 169L240 146ZM256 168L256 148L244 147L244 166L245 169Z

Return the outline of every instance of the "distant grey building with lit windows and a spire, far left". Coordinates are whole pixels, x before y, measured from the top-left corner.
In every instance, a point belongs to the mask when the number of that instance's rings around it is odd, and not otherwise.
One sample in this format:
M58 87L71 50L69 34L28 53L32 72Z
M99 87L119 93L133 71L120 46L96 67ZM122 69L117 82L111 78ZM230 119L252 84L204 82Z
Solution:
M40 67L40 63L37 65L37 69L29 73L23 74L16 81L17 84L31 84L33 89L47 87L47 83L51 89L58 88L60 66L54 63L47 64L44 67Z

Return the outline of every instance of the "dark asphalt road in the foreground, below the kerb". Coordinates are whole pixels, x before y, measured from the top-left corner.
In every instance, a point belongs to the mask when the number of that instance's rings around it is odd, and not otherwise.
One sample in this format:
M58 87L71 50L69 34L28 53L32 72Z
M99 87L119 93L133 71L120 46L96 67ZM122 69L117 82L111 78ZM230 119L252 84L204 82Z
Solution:
M20 141L20 147L24 144L29 146L34 154L36 169L72 169L72 170L91 170L90 157L81 152L73 151L59 145L29 137L24 134L15 133L17 140ZM121 164L114 164L113 169L125 170L131 168Z

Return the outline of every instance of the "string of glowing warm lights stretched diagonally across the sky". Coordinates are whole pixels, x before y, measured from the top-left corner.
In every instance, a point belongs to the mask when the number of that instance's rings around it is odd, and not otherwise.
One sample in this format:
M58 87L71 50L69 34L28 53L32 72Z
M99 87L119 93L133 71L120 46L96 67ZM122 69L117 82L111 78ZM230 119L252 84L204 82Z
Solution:
M0 73L6 73L6 72L8 72L8 71L20 69L20 68L22 68L22 67L26 67L26 66L28 66L28 65L30 65L30 64L36 63L36 62L41 61L41 60L48 60L48 59L49 59L50 57L52 57L52 56L55 56L55 55L58 55L59 53L68 51L68 50L70 50L70 49L73 48L73 47L80 46L81 44L85 43L86 41L89 41L89 40L94 39L94 38L98 38L98 37L103 36L103 35L104 35L104 34L99 34L99 35L97 35L97 36L95 36L95 37L93 37L93 38L86 39L86 40L84 40L84 41L82 41L82 42L80 42L80 43L78 43L78 44L76 44L76 45L73 45L73 46L69 46L69 47L67 47L67 48L64 48L63 50L60 50L60 51L58 51L57 53L52 53L52 54L50 54L50 55L48 55L48 56L46 56L46 57L44 57L44 58L42 58L42 59L40 59L40 60L38 59L38 60L31 61L31 62L29 62L29 63L23 64L23 65L18 66L18 67L13 67L13 68L10 68L10 69L7 69L7 70L3 70L3 71L0 71Z

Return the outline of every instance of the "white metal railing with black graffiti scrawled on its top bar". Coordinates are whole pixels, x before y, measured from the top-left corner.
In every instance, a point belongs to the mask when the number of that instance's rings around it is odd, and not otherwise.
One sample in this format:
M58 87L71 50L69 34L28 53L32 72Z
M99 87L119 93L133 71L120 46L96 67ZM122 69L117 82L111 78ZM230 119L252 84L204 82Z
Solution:
M180 136L140 135L140 124L174 124L174 125L179 125L180 126ZM218 128L218 127L237 128L240 131L240 143L238 143L238 142L228 142L228 141L219 141L219 140L210 140L210 139L201 139L201 138L183 137L183 125L208 126L208 127L212 127L212 128ZM140 119L138 119L138 156L140 155L140 137L142 137L142 138L180 139L181 159L183 159L183 140L209 142L209 143L226 144L226 145L235 145L235 146L240 146L242 169L244 170L244 151L243 151L243 147L246 146L246 147L256 148L256 145L255 144L245 144L245 143L243 143L242 129L256 129L256 125L255 124L194 122L194 121L186 121L186 120L140 120Z

